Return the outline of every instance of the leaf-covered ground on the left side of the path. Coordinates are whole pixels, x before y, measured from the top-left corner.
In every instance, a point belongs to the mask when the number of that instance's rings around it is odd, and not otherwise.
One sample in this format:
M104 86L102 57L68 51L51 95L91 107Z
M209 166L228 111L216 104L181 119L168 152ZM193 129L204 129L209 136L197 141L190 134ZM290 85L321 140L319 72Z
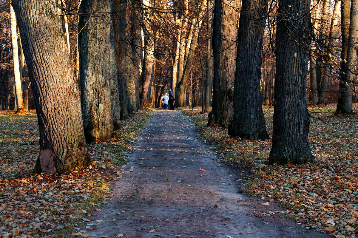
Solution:
M39 149L34 110L0 112L0 237L71 237L110 192L130 144L149 119L140 110L106 142L87 144L92 165L62 176L33 174ZM86 235L83 235L85 237Z

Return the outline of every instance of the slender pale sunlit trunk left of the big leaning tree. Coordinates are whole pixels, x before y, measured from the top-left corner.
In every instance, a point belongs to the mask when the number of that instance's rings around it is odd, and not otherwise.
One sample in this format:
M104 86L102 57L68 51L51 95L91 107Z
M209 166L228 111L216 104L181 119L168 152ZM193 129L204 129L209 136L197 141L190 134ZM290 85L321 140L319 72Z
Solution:
M11 0L10 0L11 3ZM16 34L16 17L13 7L10 4L10 24L11 24L11 42L13 45L13 65L14 65L14 85L15 85L15 99L16 99L16 113L25 112L24 101L22 97L21 77L19 67L19 50L18 38Z

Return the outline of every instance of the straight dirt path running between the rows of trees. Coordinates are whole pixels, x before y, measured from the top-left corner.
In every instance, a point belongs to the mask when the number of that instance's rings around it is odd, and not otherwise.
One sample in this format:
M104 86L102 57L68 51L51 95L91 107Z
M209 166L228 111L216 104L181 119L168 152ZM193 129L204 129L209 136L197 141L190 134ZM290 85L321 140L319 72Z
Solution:
M216 161L180 111L152 116L107 204L87 217L90 237L328 237L280 213L257 217L287 209L238 193L240 173Z

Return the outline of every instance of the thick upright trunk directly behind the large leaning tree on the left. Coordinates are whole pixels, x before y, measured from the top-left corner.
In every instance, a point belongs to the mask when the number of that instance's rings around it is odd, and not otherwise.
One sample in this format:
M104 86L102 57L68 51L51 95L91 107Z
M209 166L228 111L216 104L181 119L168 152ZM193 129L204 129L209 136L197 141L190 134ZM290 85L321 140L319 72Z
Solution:
M86 140L105 141L120 127L110 1L83 0L78 28L79 78Z

